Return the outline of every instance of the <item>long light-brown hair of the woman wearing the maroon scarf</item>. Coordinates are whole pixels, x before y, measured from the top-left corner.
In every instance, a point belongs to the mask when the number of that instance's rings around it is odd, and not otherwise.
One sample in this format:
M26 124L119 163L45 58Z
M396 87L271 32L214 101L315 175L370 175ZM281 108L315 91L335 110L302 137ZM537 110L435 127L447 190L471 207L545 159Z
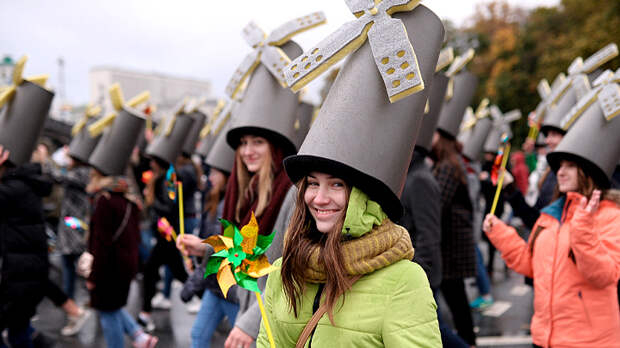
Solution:
M241 158L241 146L237 147L237 151L235 151L235 161L237 162L237 188L239 192L239 198L235 206L235 219L237 221L241 221L240 215L243 205L248 201L254 201L255 191L258 191L258 205L256 206L254 215L260 217L263 215L265 208L269 205L269 201L271 200L273 173L275 171L273 157L271 155L272 151L273 149L270 145L270 151L265 153L265 158L263 159L258 173L256 173L257 175L250 175L248 168ZM256 185L256 180L258 180L258 190L253 189L254 185Z

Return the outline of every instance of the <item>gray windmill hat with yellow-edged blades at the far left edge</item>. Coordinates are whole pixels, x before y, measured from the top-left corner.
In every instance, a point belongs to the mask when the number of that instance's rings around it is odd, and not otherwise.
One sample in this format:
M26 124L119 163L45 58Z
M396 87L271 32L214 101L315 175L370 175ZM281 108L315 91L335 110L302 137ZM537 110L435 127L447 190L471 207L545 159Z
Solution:
M10 151L13 166L30 161L54 98L42 87L47 76L22 77L26 59L15 64L12 85L0 87L0 145Z

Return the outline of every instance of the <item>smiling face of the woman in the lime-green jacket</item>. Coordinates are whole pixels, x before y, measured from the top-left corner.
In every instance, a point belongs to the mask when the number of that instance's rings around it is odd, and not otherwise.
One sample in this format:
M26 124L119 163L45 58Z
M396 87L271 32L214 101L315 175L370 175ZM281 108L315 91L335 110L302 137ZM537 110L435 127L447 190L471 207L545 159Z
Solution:
M329 174L312 172L306 178L308 185L304 201L321 233L332 232L346 213L349 189L344 180Z

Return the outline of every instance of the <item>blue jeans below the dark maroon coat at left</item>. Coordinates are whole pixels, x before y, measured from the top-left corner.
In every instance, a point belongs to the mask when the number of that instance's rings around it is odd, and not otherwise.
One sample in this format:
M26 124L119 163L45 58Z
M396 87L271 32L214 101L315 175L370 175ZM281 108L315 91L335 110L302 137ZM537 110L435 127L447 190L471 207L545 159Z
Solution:
M108 348L123 348L125 346L123 333L133 339L141 331L138 323L122 308L111 312L98 312L103 337L105 337Z

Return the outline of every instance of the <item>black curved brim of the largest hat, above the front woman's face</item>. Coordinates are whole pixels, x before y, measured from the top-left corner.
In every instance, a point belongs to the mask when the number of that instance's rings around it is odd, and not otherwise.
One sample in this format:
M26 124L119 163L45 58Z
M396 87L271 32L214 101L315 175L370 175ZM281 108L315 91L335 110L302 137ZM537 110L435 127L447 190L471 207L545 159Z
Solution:
M400 199L387 185L344 163L318 156L293 155L284 159L284 169L293 183L311 172L334 175L362 190L370 199L379 203L392 221L398 221L403 215Z

